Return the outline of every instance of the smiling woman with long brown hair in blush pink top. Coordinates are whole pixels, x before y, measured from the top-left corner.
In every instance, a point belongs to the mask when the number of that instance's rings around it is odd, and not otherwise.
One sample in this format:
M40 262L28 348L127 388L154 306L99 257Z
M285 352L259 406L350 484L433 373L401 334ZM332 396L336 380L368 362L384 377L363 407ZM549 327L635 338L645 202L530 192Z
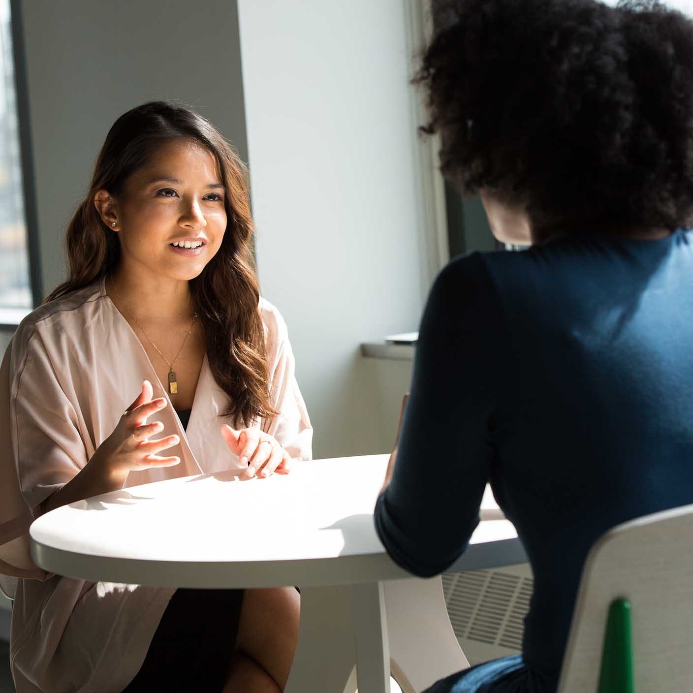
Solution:
M94 584L40 570L26 534L125 486L229 468L261 479L310 457L286 324L258 290L244 173L186 107L123 114L67 229L69 277L8 348L0 572L15 577L18 693L283 690L293 588Z

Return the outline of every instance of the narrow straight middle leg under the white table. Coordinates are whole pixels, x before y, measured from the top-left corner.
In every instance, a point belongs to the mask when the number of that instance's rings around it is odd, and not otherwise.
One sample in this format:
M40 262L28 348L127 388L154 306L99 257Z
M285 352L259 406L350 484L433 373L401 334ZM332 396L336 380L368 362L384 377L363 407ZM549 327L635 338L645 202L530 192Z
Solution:
M351 589L358 693L390 693L383 583L367 582Z

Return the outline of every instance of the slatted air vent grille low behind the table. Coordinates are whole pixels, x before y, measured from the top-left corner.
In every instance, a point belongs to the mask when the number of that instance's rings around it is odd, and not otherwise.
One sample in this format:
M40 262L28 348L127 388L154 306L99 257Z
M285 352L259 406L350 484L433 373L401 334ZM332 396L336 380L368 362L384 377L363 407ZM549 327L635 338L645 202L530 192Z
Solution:
M457 638L522 649L523 619L533 580L502 570L443 575L443 592Z

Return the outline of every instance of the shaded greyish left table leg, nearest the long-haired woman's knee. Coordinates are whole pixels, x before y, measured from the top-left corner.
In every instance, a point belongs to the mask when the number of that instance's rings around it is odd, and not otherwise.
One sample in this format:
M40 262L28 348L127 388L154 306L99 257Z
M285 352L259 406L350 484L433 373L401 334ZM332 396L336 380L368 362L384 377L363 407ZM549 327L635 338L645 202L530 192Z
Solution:
M285 693L341 693L356 663L352 587L301 587L299 639Z

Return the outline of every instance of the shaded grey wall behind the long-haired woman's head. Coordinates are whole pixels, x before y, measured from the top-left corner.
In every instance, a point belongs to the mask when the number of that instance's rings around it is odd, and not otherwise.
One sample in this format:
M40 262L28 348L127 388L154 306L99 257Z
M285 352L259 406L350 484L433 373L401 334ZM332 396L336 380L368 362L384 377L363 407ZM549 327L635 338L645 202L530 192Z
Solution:
M22 0L44 293L115 119L180 98L247 158L235 0Z

